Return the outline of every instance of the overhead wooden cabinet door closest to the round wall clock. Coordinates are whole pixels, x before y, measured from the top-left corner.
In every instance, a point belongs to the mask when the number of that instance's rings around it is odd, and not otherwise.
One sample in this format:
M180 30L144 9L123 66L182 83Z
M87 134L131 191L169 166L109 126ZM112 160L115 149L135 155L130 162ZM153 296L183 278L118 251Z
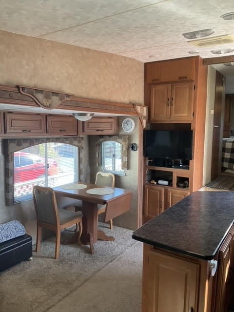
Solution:
M93 117L83 122L82 134L85 135L112 135L117 134L117 117Z

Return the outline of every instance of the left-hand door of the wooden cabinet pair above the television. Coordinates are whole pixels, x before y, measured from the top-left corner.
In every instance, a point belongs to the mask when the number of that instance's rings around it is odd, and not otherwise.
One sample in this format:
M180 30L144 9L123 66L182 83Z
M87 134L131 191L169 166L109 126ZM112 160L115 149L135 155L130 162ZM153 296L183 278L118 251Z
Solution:
M150 121L169 120L171 84L151 86Z

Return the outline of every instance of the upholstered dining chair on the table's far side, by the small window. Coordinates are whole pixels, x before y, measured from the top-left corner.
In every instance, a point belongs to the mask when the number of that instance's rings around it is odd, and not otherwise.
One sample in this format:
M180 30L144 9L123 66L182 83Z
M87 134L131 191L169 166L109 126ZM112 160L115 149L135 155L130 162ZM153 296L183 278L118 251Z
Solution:
M115 187L115 176L112 173L98 171L95 179L95 184L98 186ZM82 202L75 206L75 211L82 210ZM105 213L106 205L98 205L98 215ZM113 220L109 221L110 229L113 230Z

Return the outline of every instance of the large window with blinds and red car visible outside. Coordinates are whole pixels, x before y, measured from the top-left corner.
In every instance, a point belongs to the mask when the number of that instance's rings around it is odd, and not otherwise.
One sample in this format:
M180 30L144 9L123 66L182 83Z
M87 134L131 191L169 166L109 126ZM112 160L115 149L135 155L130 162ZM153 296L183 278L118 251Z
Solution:
M78 147L44 143L14 153L14 203L32 198L34 185L55 187L78 181Z

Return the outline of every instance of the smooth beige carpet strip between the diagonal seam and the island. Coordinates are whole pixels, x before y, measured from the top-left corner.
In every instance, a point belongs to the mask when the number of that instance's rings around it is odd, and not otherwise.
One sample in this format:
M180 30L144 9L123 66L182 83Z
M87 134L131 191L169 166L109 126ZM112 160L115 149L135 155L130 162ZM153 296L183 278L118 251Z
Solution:
M140 312L142 247L138 242L48 312Z

